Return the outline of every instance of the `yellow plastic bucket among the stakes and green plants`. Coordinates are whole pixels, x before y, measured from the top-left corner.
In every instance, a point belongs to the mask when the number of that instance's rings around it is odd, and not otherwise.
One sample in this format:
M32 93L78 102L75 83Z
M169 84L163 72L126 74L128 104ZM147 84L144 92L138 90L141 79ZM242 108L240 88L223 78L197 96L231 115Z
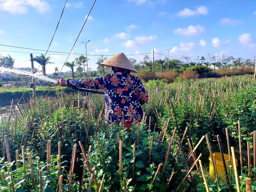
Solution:
M217 169L218 176L225 175L225 170L224 170L225 168L223 166L221 153L212 153L212 155L213 154L215 154L215 163L216 163L216 169ZM223 155L224 155L224 160L226 162L226 168L228 170L229 163L227 161L229 161L229 157L228 157L228 154L223 154ZM211 156L209 156L209 160L210 160L209 174L211 176L211 180L215 180L214 168L213 168L213 165L212 165ZM232 167L234 167L232 156L231 156L231 165L232 165ZM238 162L237 162L237 159L236 159L236 167L237 166L238 166ZM234 169L232 170L232 172L234 172ZM220 181L223 182L223 180L225 178L226 178L226 176L222 176Z

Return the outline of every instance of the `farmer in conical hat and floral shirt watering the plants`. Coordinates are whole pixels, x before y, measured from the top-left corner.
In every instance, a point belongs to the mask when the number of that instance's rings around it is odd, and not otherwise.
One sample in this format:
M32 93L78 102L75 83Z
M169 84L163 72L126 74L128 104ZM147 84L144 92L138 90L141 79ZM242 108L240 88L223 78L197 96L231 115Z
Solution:
M122 122L130 130L132 122L140 122L143 116L142 105L148 101L148 94L137 76L136 69L123 54L117 54L101 63L112 68L113 74L98 78L79 80L58 79L58 85L69 88L104 89L106 123Z

